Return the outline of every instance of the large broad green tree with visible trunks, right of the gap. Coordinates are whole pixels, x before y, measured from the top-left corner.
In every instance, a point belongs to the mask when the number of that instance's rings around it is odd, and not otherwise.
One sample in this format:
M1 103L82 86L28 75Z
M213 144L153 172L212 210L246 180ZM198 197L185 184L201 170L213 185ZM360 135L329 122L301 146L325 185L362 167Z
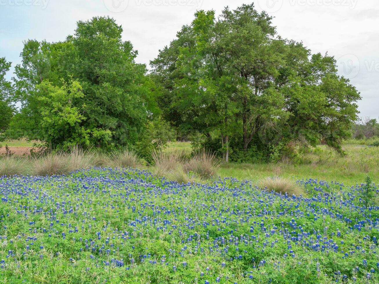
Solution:
M254 4L226 8L218 20L213 11L197 12L151 62L170 103L164 108L180 113L166 118L221 136L221 147L232 136L245 152L321 138L340 151L357 118L359 93L337 75L333 57L282 39L271 20Z

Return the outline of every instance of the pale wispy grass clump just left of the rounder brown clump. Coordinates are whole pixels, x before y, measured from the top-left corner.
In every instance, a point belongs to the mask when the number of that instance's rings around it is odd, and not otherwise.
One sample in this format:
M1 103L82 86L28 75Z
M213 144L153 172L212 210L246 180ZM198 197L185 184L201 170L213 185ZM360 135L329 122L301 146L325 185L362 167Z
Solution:
M163 151L162 149L153 150L152 158L154 163L153 172L156 175L164 175L181 167L185 161L185 153L180 150Z

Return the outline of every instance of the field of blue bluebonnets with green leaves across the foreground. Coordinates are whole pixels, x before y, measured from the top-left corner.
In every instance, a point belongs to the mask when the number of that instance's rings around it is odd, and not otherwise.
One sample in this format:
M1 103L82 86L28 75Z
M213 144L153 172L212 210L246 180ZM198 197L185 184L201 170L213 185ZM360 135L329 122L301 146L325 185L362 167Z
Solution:
M304 196L94 168L0 179L2 282L378 283L374 184Z

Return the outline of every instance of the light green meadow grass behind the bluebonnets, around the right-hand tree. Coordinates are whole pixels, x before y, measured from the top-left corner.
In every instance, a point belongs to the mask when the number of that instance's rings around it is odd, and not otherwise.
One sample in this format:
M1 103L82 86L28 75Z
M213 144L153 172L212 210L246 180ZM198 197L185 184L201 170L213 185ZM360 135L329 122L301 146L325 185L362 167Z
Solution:
M191 152L189 142L169 144L170 149L182 149ZM324 145L319 145L304 154L301 164L288 163L229 163L222 164L218 170L221 177L233 176L238 179L260 180L268 176L285 178L317 178L326 181L339 181L346 184L363 182L366 175L379 183L379 148L361 147L361 144L345 144L346 156L341 156Z

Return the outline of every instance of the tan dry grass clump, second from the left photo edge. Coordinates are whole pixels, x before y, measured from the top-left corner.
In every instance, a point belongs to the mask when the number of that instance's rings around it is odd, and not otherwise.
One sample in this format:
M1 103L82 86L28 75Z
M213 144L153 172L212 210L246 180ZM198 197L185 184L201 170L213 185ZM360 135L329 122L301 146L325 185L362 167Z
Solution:
M62 151L41 154L33 162L34 173L39 176L63 175L71 172L67 154Z

